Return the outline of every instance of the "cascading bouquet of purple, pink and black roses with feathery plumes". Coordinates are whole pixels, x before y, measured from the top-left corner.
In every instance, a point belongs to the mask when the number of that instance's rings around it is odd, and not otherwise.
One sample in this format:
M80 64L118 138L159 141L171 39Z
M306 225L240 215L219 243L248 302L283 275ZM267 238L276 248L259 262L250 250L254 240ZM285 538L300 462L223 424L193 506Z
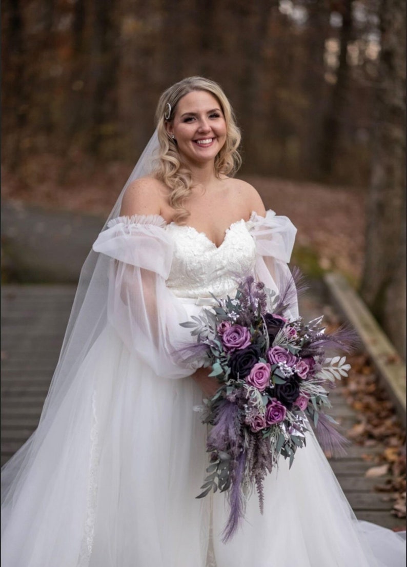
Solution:
M253 486L263 513L265 476L280 455L292 466L295 451L305 446L310 422L325 451L343 452L347 443L324 410L331 407L329 389L350 365L345 357L327 358L324 351L332 346L349 350L349 332L326 333L322 316L307 324L302 318L286 319L293 286L292 280L276 295L248 278L234 298L213 296L215 307L181 324L191 329L204 366L211 366L210 376L219 380L219 390L204 400L203 422L212 426L210 464L198 498L211 490L227 491L224 541L244 517Z

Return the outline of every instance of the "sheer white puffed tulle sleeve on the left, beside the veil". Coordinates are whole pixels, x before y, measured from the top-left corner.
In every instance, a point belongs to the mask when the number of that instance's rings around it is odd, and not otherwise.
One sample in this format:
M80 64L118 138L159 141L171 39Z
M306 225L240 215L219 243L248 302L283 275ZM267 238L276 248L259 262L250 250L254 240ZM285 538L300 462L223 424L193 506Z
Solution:
M127 348L143 358L157 375L183 378L199 361L188 358L189 316L166 287L173 243L160 215L117 217L100 233L93 249L112 258L109 271L108 321ZM181 348L183 347L183 348Z

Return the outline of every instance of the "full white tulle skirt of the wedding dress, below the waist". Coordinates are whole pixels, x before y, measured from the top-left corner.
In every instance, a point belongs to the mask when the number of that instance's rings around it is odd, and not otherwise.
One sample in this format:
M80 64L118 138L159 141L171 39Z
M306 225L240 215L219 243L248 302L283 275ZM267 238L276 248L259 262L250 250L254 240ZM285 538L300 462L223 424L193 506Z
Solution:
M194 380L156 376L107 327L44 441L34 434L5 468L2 566L404 566L400 536L355 519L312 434L269 475L264 515L253 494L222 544L224 495L195 498L200 403Z

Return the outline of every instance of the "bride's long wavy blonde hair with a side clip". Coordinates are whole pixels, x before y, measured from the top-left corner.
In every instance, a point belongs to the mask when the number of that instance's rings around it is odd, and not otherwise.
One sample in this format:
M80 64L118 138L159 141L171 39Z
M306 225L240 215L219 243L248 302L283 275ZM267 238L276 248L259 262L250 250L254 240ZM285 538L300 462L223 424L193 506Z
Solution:
M169 136L165 123L172 122L179 100L192 91L207 91L219 102L226 122L226 141L215 158L215 174L233 176L241 166L241 156L238 146L241 133L236 124L233 109L229 100L219 84L204 77L188 77L173 84L164 91L158 101L156 110L156 125L160 151L157 158L155 176L170 188L169 203L175 209L174 221L185 222L190 212L185 209L183 202L192 191L192 178L190 170L181 163L177 144ZM168 104L171 111L168 115Z

